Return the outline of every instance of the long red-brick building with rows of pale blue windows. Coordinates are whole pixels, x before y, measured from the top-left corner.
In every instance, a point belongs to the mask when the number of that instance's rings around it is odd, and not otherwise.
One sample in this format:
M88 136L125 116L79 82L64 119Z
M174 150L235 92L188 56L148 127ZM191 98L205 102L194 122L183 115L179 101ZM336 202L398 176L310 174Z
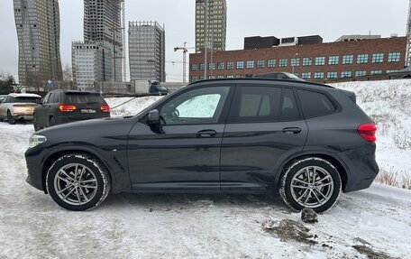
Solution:
M291 72L310 81L388 79L404 69L406 37L322 42L319 36L245 38L245 50L214 51L207 79ZM213 59L211 60L211 57ZM190 81L205 79L205 54L190 54Z

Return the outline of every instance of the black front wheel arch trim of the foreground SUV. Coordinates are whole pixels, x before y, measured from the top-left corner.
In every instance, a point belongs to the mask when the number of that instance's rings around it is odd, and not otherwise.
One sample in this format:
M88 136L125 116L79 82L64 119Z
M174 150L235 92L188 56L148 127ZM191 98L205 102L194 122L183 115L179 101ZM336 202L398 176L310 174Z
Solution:
M110 182L113 184L113 180L114 177L112 175L113 171L112 169L108 166L108 162L105 161L105 159L99 155L98 153L90 150L90 149L74 149L74 148L70 148L70 149L65 149L65 150L59 150L56 151L55 153L51 153L47 159L42 163L42 167L41 167L41 186L42 189L44 191L44 193L47 194L47 188L46 188L46 178L47 178L47 172L50 169L50 166L56 162L60 157L68 155L68 154L72 154L72 153L82 153L85 154L87 156L91 156L95 159L97 159L98 161L100 161L102 163L103 166L105 166L105 170L107 171L108 177L110 178Z

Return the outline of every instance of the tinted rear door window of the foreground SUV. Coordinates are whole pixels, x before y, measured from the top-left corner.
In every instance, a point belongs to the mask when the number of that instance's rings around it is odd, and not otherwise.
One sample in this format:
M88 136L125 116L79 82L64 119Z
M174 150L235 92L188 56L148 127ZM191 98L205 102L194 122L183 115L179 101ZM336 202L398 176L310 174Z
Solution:
M269 123L298 118L297 103L292 89L242 86L236 90L228 122Z

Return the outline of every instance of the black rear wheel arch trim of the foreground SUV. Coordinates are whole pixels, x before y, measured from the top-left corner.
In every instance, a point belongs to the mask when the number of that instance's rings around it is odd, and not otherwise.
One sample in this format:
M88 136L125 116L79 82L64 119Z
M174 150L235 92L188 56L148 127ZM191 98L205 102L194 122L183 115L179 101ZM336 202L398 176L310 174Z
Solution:
M279 190L279 184L281 183L281 178L286 173L287 168L289 165L291 165L293 162L296 162L297 160L305 159L307 157L318 157L321 159L324 159L328 162L331 162L335 169L338 171L340 174L341 180L342 180L342 191L345 190L347 185L350 182L350 171L346 164L342 162L342 159L339 158L335 154L331 153L322 153L322 152L313 152L313 153L297 153L292 157L288 157L287 160L281 163L279 166L279 169L277 171L277 176L276 176L276 182L275 186Z

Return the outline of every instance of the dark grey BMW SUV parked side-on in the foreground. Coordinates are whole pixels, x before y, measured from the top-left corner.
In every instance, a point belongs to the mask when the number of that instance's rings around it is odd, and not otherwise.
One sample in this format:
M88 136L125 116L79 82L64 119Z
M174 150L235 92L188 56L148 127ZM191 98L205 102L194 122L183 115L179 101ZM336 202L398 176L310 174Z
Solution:
M137 116L33 134L28 178L71 210L109 192L279 193L293 209L331 208L379 171L376 127L355 95L294 80L193 83Z

